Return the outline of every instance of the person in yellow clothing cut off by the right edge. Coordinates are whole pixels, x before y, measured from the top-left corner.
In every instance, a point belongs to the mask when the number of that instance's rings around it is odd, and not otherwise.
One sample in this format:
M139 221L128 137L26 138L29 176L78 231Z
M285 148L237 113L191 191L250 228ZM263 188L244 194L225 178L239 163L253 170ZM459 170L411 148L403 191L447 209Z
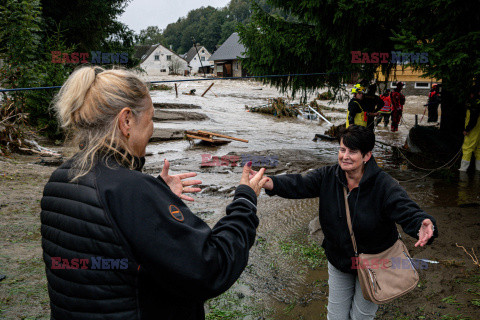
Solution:
M474 87L467 101L467 115L465 118L465 130L463 135L462 162L460 171L467 171L475 154L475 169L480 171L480 87Z

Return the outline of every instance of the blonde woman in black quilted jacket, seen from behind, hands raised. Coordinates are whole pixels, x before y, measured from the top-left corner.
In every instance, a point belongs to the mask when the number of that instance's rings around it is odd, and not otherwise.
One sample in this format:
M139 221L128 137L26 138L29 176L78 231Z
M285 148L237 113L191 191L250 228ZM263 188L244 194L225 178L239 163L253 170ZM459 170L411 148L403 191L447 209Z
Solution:
M182 200L195 173L141 172L153 132L146 85L126 70L77 69L55 99L78 153L45 186L41 233L52 319L204 319L248 260L264 169L244 172L211 229Z

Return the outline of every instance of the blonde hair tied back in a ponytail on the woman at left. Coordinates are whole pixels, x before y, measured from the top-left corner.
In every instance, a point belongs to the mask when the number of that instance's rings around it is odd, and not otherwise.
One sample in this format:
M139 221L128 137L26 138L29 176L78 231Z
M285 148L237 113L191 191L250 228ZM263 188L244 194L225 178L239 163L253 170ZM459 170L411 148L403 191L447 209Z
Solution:
M62 128L79 146L72 180L90 171L100 153L120 157L133 168L131 152L119 134L118 115L127 107L134 115L143 112L148 96L145 83L125 69L87 66L70 75L53 106Z

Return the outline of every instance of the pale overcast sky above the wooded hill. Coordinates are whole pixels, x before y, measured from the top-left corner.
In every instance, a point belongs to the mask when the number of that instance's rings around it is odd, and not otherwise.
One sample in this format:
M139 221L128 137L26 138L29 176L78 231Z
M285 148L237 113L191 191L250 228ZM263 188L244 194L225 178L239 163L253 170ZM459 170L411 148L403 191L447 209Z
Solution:
M178 18L185 17L190 10L200 7L225 7L230 0L132 0L119 20L136 33L148 26L160 29Z

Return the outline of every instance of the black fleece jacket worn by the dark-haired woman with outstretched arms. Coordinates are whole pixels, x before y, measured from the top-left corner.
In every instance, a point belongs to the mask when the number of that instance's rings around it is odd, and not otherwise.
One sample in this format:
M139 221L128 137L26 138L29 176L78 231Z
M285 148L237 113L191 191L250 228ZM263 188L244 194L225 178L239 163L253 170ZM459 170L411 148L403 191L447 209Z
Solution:
M322 247L328 261L343 272L356 274L351 268L351 258L355 254L343 196L347 180L340 166L325 166L305 175L286 174L270 178L274 185L273 190L267 190L270 196L320 198L320 225L325 235ZM396 223L405 233L418 239L422 221L430 219L435 231L429 243L438 236L435 219L422 211L398 182L377 166L373 157L366 164L359 186L351 190L348 203L358 253L380 253L392 246L398 239Z

